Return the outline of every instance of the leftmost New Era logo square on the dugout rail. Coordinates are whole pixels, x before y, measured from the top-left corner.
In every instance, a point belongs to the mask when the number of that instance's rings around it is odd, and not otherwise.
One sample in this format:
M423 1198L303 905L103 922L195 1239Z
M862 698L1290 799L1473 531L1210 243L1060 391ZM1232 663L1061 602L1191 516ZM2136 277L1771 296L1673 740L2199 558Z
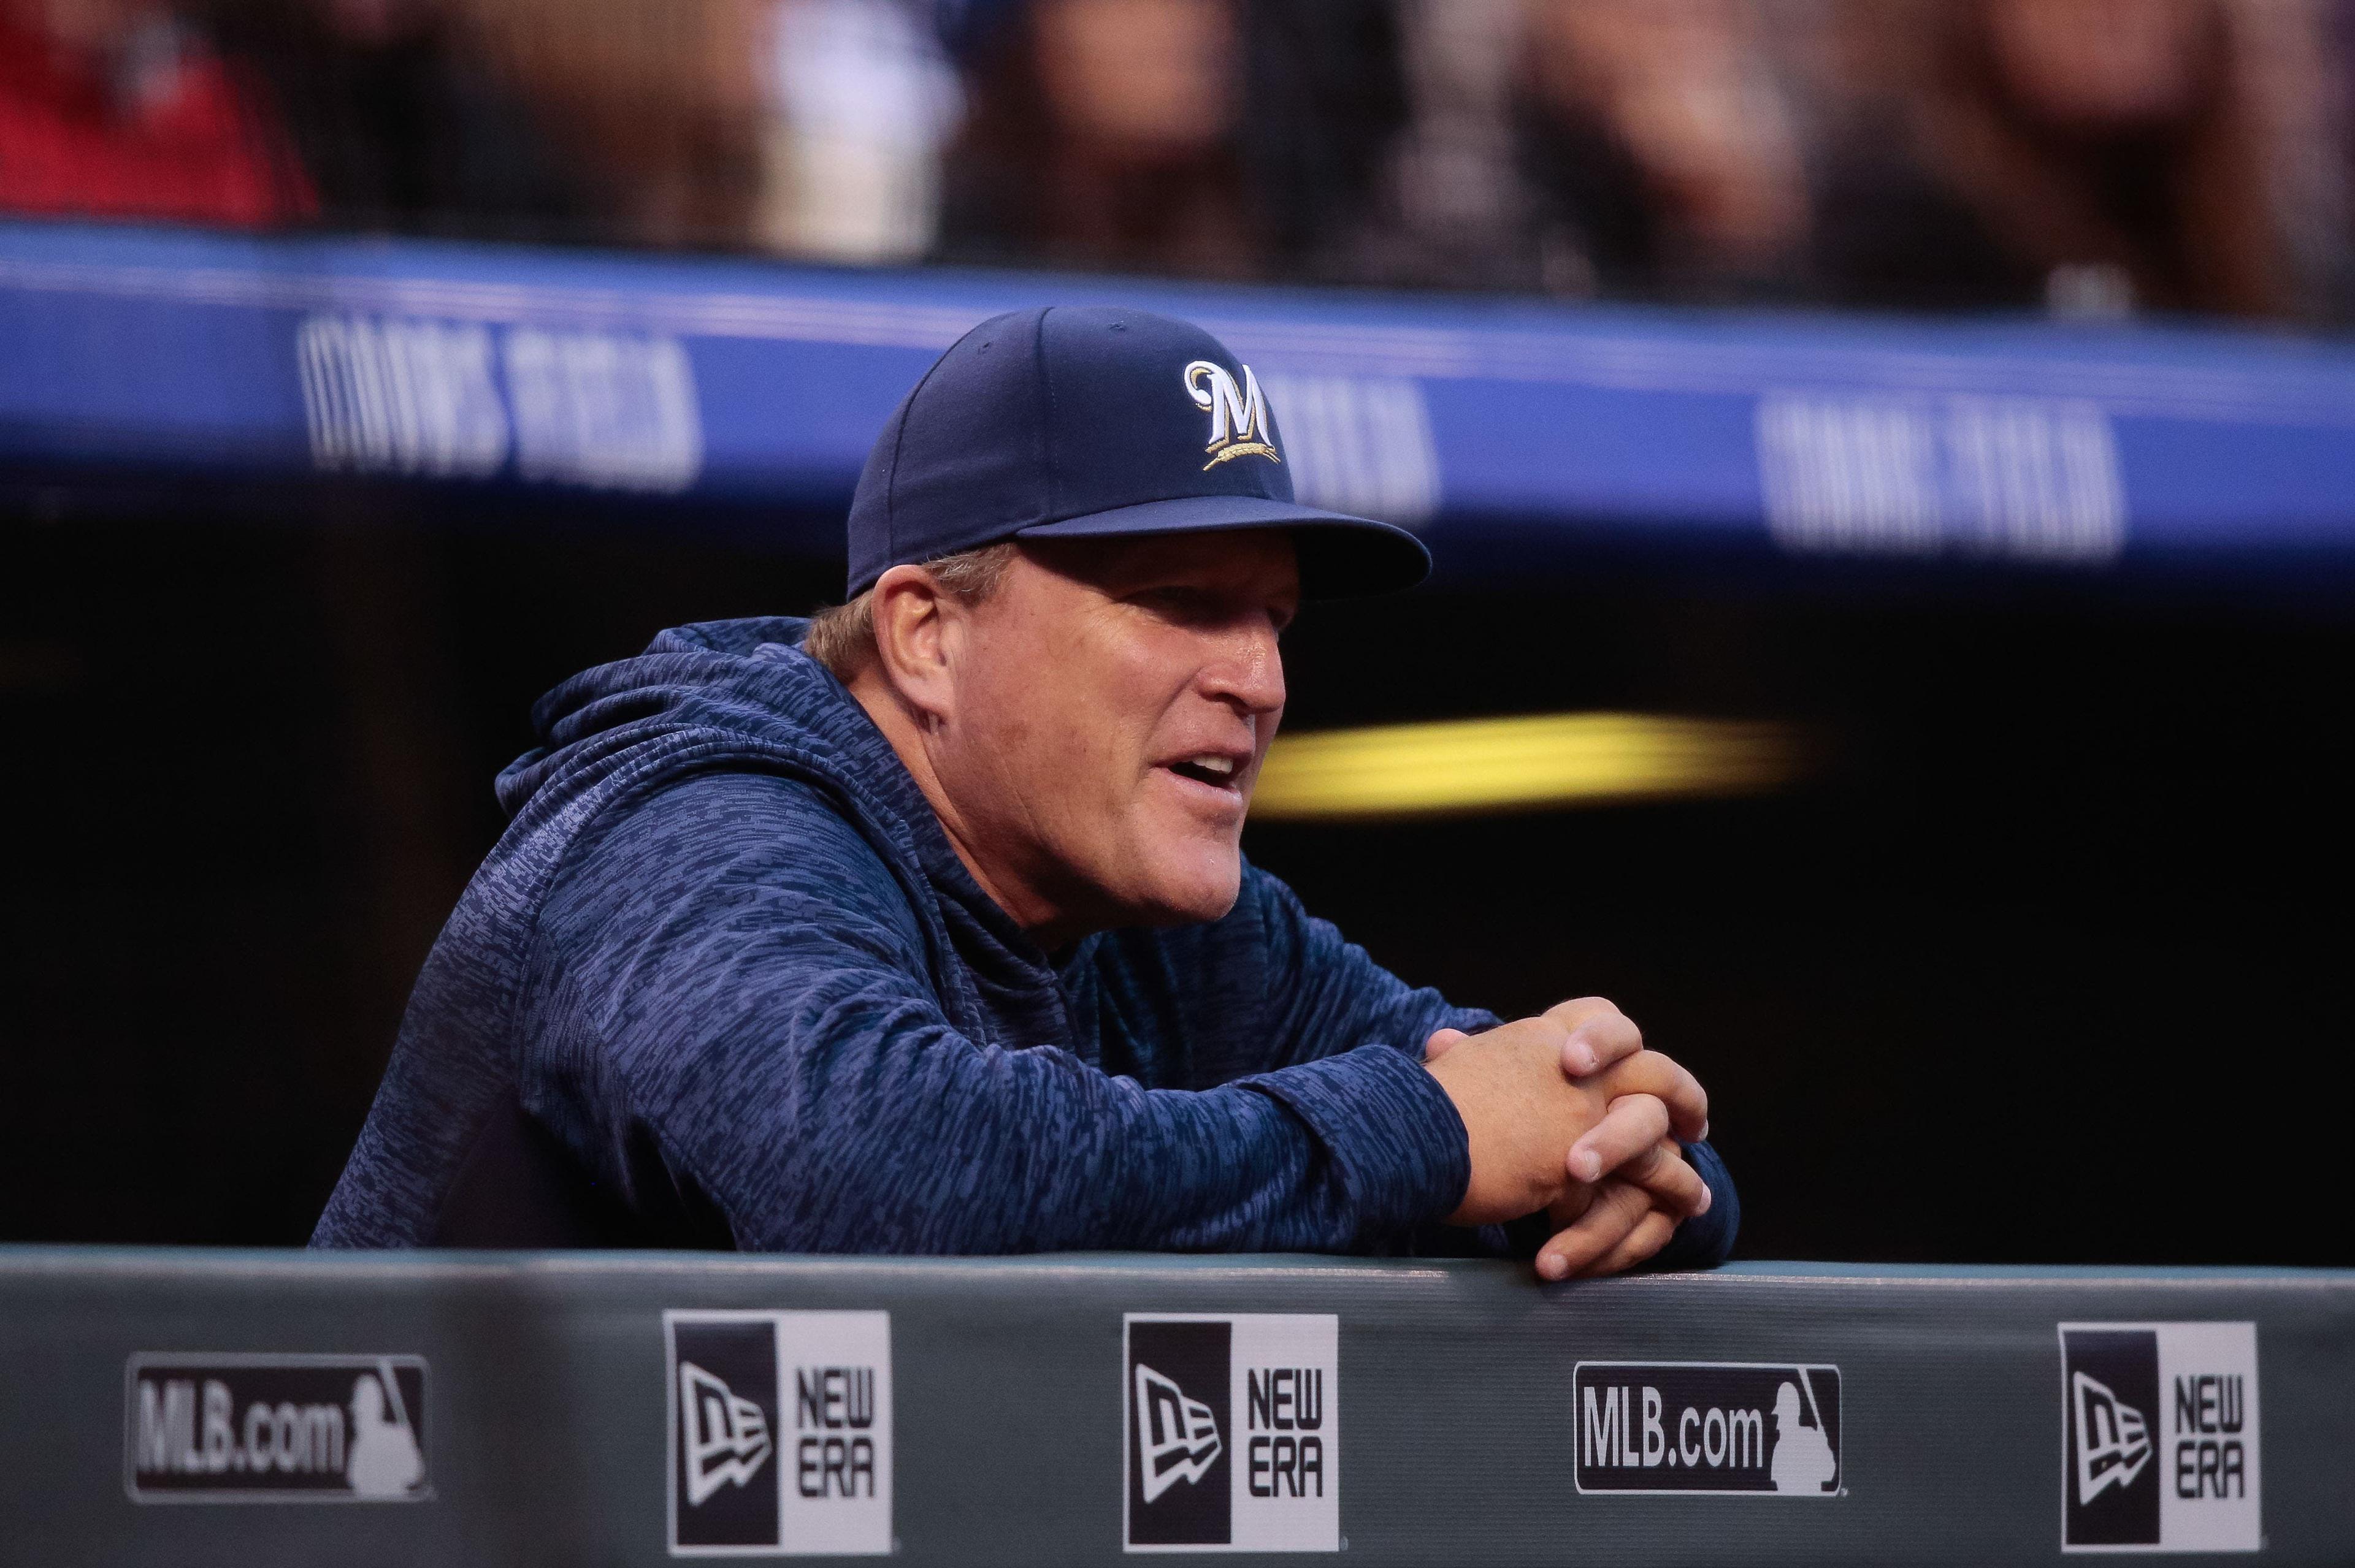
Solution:
M893 1549L888 1311L664 1311L671 1556Z

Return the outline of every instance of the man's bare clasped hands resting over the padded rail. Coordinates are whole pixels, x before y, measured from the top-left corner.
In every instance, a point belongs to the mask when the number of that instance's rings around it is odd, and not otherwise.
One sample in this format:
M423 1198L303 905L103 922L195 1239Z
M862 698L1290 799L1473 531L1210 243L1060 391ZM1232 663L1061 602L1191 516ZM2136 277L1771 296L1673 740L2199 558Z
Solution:
M1543 1278L1618 1274L1644 1262L1710 1187L1684 1158L1707 1135L1710 1097L1599 996L1486 1034L1441 1029L1422 1062L1455 1102L1472 1182L1451 1224L1554 1222ZM1679 1142L1681 1140L1681 1142Z

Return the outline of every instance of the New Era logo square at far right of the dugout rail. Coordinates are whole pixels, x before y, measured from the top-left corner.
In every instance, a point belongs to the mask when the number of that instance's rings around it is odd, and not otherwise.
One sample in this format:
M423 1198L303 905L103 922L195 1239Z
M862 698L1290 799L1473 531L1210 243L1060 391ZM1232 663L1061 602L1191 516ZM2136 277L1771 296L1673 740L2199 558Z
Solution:
M2263 1544L2256 1323L2063 1323L2063 1552Z

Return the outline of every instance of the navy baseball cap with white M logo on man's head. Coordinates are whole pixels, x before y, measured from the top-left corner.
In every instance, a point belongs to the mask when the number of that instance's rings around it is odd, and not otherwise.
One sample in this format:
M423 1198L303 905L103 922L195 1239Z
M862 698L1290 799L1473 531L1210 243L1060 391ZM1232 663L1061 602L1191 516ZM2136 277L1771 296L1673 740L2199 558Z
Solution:
M1316 598L1408 589L1404 527L1293 501L1276 414L1215 337L1119 306L991 315L883 426L850 501L850 593L999 539L1291 530Z

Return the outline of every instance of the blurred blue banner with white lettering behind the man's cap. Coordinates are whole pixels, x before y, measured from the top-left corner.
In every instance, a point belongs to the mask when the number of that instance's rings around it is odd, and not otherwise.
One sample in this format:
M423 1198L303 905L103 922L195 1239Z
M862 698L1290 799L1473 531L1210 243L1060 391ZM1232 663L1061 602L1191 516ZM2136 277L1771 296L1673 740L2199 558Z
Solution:
M1594 549L2355 567L2355 344L827 271L0 224L0 464L775 506L838 549L874 431L975 320L1123 301L1258 372L1305 499L1458 577Z

